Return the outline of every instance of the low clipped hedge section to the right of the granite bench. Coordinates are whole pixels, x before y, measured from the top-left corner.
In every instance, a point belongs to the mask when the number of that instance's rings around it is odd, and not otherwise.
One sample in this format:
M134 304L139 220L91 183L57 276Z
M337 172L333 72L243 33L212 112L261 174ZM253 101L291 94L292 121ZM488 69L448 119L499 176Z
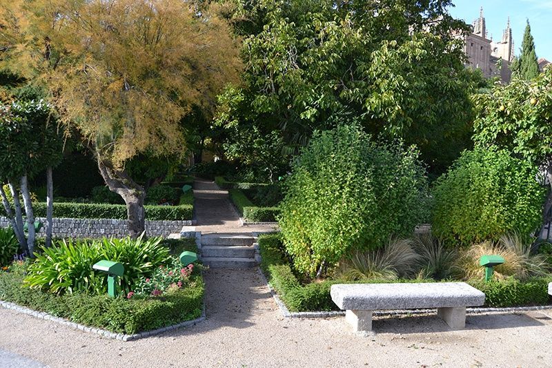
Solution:
M506 278L504 280L469 280L468 283L475 289L485 293L485 305L487 307L519 307L528 305L549 304L548 284L549 278L533 278L517 280Z

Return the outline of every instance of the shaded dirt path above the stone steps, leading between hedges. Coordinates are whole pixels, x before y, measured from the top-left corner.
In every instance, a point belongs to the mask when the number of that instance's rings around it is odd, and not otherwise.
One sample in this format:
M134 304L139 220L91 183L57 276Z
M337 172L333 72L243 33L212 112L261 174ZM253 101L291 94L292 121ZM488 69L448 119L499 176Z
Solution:
M196 179L194 182L196 230L201 233L251 233L273 231L273 226L242 226L228 191L222 190L209 180Z

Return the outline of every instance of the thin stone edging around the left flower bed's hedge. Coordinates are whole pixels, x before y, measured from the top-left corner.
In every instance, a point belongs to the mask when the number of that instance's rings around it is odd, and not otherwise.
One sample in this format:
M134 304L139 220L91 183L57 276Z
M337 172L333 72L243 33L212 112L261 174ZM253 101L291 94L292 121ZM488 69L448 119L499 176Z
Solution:
M79 323L71 322L70 320L66 320L65 318L52 316L51 314L48 314L46 312L34 311L26 307L21 307L18 304L15 304L12 302L5 302L3 300L0 300L0 307L6 308L6 309L12 309L22 314L28 314L29 316L40 318L41 320L50 320L52 322L58 323L59 325L66 325L67 327L70 327L72 329L78 329L84 332L96 333L104 338L110 338L112 340L121 340L121 341L132 341L132 340L139 340L141 338L148 338L150 336L159 335L166 331L173 331L181 327L193 326L199 322L203 322L206 319L205 304L204 304L203 308L201 309L201 316L199 318L196 318L195 320L180 322L180 323L177 323L176 325L161 327L160 329L155 329L152 331L144 331L144 332L134 333L132 335L126 335L124 333L115 333L104 329L98 329L97 327L80 325Z

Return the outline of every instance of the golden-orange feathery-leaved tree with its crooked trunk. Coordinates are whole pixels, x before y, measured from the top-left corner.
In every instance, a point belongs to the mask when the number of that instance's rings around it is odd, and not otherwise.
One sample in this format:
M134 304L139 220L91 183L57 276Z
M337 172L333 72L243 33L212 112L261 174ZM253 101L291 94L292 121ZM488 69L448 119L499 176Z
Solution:
M126 162L184 152L179 125L193 108L210 115L237 79L236 40L216 9L184 0L15 0L0 7L3 63L50 90L61 119L97 158L144 231L145 191Z

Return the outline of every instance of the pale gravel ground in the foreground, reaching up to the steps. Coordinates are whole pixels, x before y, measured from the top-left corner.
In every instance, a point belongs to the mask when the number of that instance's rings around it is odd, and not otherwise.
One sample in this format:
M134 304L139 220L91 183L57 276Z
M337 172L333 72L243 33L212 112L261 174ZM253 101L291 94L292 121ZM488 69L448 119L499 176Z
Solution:
M211 269L207 320L121 342L0 309L0 349L51 367L551 367L552 310L375 318L355 335L344 318L283 318L257 270ZM0 361L0 366L2 366Z

